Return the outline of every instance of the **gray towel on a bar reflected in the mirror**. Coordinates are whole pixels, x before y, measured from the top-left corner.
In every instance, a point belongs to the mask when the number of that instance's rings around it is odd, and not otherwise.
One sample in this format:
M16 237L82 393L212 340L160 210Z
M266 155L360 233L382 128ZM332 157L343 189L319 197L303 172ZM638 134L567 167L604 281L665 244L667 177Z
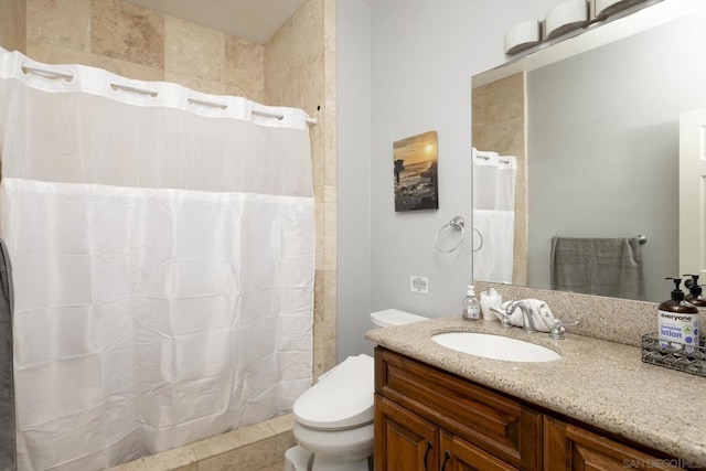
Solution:
M637 237L552 238L552 289L644 299Z

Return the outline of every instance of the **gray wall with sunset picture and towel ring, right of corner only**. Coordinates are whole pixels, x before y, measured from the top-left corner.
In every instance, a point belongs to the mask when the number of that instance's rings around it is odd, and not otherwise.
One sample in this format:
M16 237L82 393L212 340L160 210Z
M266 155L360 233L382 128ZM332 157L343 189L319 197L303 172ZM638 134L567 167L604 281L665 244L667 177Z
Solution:
M453 216L471 217L471 76L505 61L504 33L544 18L528 0L385 0L372 3L371 240L373 309L460 314L471 269L470 237L440 256L434 238ZM438 133L439 210L395 213L392 143ZM429 278L413 293L409 276Z

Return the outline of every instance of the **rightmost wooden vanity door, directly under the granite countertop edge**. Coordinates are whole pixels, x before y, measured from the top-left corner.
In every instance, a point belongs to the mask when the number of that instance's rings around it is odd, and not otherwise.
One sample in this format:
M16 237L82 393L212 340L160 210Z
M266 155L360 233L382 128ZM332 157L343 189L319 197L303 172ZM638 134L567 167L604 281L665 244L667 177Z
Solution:
M670 462L548 416L544 417L546 471L672 470Z

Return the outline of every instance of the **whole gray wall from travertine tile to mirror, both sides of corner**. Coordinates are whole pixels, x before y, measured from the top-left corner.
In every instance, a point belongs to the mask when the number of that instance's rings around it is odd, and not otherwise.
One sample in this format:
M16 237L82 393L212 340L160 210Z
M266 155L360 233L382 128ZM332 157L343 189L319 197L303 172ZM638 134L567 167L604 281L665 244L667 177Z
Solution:
M339 360L370 351L371 310L460 313L470 238L447 256L434 238L453 216L470 226L471 76L505 61L507 28L560 1L338 2ZM429 130L438 132L439 210L395 213L393 142ZM429 278L429 295L409 291L410 275Z

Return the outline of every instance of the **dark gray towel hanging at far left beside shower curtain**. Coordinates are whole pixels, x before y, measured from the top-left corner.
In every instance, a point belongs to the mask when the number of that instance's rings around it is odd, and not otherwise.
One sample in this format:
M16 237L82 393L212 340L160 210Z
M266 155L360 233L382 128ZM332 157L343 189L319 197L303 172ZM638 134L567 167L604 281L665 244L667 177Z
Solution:
M17 469L12 307L10 255L0 240L0 470Z

